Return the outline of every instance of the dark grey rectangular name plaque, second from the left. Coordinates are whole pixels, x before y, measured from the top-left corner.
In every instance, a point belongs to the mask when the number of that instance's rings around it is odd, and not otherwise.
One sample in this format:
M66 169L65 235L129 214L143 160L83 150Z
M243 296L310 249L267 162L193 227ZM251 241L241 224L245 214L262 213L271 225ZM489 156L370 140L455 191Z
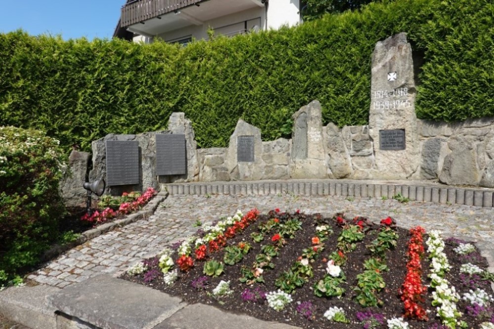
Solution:
M187 174L185 135L156 135L156 174L159 176Z

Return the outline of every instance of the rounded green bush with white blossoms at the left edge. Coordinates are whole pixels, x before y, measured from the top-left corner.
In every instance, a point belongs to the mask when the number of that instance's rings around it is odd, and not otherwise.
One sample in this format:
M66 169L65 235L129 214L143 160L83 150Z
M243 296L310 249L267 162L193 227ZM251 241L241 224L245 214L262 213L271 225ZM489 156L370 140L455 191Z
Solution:
M41 131L0 127L0 286L58 238L63 158Z

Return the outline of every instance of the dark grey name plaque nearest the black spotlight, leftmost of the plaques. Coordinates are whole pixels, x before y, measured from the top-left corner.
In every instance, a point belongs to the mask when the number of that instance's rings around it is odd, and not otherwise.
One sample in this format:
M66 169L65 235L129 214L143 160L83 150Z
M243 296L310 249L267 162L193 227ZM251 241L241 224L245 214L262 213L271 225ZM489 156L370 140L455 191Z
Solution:
M137 141L106 141L106 184L139 183L139 143Z

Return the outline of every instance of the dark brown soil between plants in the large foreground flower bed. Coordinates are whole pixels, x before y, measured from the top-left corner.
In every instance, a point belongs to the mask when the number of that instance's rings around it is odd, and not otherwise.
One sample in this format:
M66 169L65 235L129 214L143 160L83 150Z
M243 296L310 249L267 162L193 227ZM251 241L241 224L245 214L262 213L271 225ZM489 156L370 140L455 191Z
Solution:
M270 212L271 216L274 217L277 214ZM278 214L279 217L280 214ZM265 279L264 284L255 283L253 285L247 286L245 283L241 283L239 278L240 268L242 265L247 265L251 267L254 263L255 256L261 253L261 245L271 244L270 237L266 236L264 241L261 243L255 243L250 237L250 233L257 232L257 226L267 221L270 216L261 215L256 222L251 224L243 233L238 233L234 238L227 241L227 245L237 245L241 241L248 242L251 244L252 249L244 257L244 259L233 266L225 265L225 271L217 278L207 277L207 285L203 290L197 290L192 287L192 282L197 278L204 276L203 274L203 264L204 261L194 260L194 267L188 272L180 272L179 279L173 283L171 286L166 286L163 283L162 275L155 280L145 283L144 275L129 276L124 274L122 278L144 284L146 286L152 287L154 289L161 290L163 292L169 293L171 295L176 295L183 298L188 303L205 303L211 304L219 307L223 310L237 313L246 314L258 319L266 321L277 321L281 323L287 323L293 326L298 326L301 328L364 328L363 324L359 323L357 320L357 312L363 312L370 310L372 313L379 313L384 315L386 319L392 319L395 317L401 317L404 313L403 302L400 299L399 290L403 284L407 268L406 264L408 261L407 250L408 241L410 240L410 233L406 229L396 227L396 231L399 234L398 244L394 250L390 250L386 254L386 263L389 271L383 272L382 276L386 283L386 287L378 294L378 298L384 301L382 307L361 307L354 299L355 293L353 288L356 287L357 275L362 273L364 270L363 264L366 259L371 257L370 251L366 248L366 245L370 244L373 239L377 236L378 229L380 225L372 225L371 229L366 233L366 236L362 242L357 244L357 248L354 252L347 254L346 264L342 267L342 270L346 276L346 283L340 285L340 287L346 290L346 293L341 296L341 298L321 298L314 295L313 287L314 285L323 278L326 271L327 263L323 261L329 254L336 251L337 237L341 232L341 228L336 225L333 219L321 219L319 215L303 215L303 214L293 214L290 216L297 217L302 220L302 230L296 232L295 237L292 239L286 239L287 244L280 249L280 254L278 257L273 258L275 264L274 269L265 270L263 277ZM328 240L324 241L324 251L317 258L316 262L313 263L314 276L309 279L307 283L301 288L296 289L291 293L293 302L288 304L288 306L282 311L275 311L270 308L265 300L261 302L245 302L241 296L241 293L245 289L255 289L259 287L260 290L264 292L272 292L278 290L275 286L275 280L280 276L280 274L287 270L296 260L298 256L301 256L302 249L311 247L311 238L316 236L316 225L320 225L322 222L328 222L332 226L333 233L329 236ZM276 233L276 232L275 232ZM274 234L274 233L273 233ZM272 234L272 235L273 235ZM424 241L426 237L424 237ZM470 254L468 259L465 256L458 256L453 252L453 248L457 245L458 241L453 239L447 240L446 253L449 257L450 265L452 270L447 274L447 279L451 286L456 288L456 291L460 293L467 292L470 287L466 286L462 282L464 275L459 274L459 267L462 263L471 262L486 268L488 266L485 258L480 257L478 252ZM209 255L208 259L216 259L218 261L223 260L224 252L219 250L212 255ZM173 256L173 260L176 264L176 253ZM326 259L324 259L326 260ZM155 267L159 271L158 267ZM427 279L427 274L429 272L429 261L426 257L422 260L422 283L424 285L429 285L429 280ZM221 281L230 281L230 288L234 290L234 293L229 296L214 298L211 296L210 292L214 289L217 284ZM482 289L493 294L490 282L481 281L480 285ZM411 328L414 329L427 329L427 328L440 328L435 327L435 324L439 325L440 321L435 317L435 308L431 305L431 292L429 288L428 296L425 303L422 305L428 312L429 321L415 321L407 319ZM300 302L310 301L312 303L312 315L310 317L304 317L296 311L296 307ZM459 301L457 303L458 309L464 314L461 320L468 323L468 328L479 328L479 324L484 321L489 321L492 317L493 311L490 310L490 314L473 317L469 316L465 310L465 302ZM342 307L345 310L347 319L350 320L350 324L342 324L329 322L323 317L323 314L331 306ZM380 327L376 328L387 328L386 322Z

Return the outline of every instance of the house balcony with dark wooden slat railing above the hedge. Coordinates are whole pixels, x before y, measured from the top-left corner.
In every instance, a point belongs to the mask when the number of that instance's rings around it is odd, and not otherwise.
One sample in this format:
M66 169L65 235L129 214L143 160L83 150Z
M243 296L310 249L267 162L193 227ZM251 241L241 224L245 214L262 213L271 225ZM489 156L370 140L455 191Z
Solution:
M120 27L154 37L261 7L264 7L264 0L134 0L122 7Z

